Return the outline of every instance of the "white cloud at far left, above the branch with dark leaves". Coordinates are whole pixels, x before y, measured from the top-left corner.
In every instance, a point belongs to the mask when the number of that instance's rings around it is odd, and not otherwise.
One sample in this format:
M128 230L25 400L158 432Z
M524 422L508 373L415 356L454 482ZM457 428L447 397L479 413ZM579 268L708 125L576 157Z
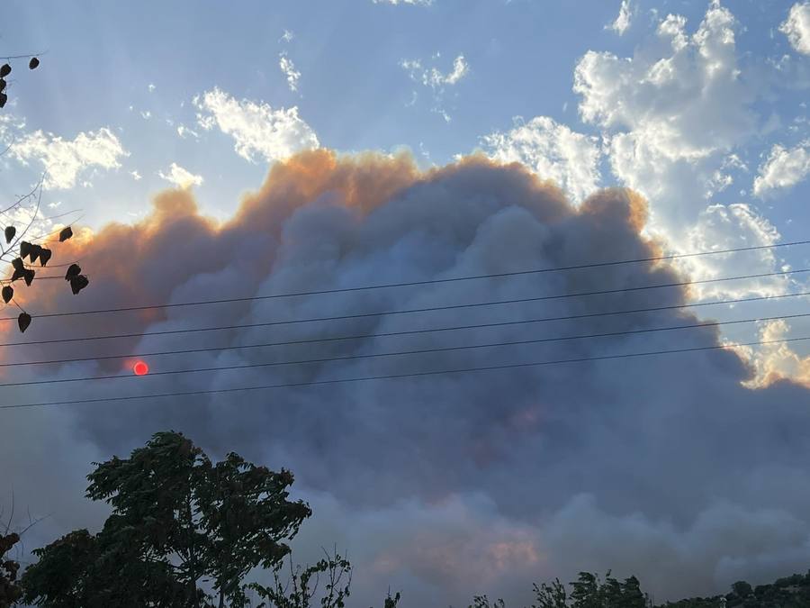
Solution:
M14 143L9 154L24 164L31 160L40 162L47 171L45 187L55 189L76 186L77 177L88 169L119 168L119 159L129 156L121 141L106 127L96 132L80 132L70 141L53 133L28 133Z

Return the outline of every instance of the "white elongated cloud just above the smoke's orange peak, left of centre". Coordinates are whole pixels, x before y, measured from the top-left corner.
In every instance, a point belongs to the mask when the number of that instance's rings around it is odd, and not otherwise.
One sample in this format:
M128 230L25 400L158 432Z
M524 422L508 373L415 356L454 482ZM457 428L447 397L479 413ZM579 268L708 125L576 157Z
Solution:
M238 155L247 160L260 155L272 162L320 145L296 106L274 110L268 104L238 100L218 87L194 97L193 104L197 123L206 131L219 127L233 137Z

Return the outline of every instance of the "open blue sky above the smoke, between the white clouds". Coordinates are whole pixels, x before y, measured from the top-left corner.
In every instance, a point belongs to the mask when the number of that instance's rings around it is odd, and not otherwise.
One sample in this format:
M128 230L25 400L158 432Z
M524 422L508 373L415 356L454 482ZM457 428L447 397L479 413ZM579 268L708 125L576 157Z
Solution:
M572 90L581 57L589 50L631 57L649 42L656 20L665 14L684 15L687 32L694 32L707 9L705 2L635 3L630 24L619 36L605 28L617 18L615 4L359 1L244 3L236 10L203 3L190 10L183 3L137 8L12 3L7 23L16 25L3 32L3 42L9 54L49 50L40 71L12 89L13 111L25 118L28 130L72 140L80 132L107 127L129 154L119 157L120 168L97 170L92 179L83 173L81 181L91 182L92 190L80 186L49 195L89 207L88 221L100 225L120 219L122 210L148 209L148 196L166 185L157 171L166 171L172 162L203 177L196 192L211 213L232 210L238 195L261 181L266 162L249 164L229 155L227 136L207 132L201 144L177 135L181 123L200 131L192 100L214 86L274 110L297 107L323 146L346 151L404 146L420 161L439 165L479 147L483 136L508 131L515 116L548 116L575 132L599 135L599 124L581 121L582 98ZM728 7L739 22L736 53L751 68L743 78L758 81L758 98L751 104L758 126L776 114L781 128L735 147L751 165L750 174L715 198L761 207L787 239L797 231L791 224L800 220L795 216L802 213L798 201L806 189L779 193L779 204L741 196L739 190L751 190L759 156L772 143L795 145L803 137L788 132L788 126L802 115L798 104L804 91L774 91L768 75L754 73L785 54L795 63L802 59L779 32L790 5L737 2ZM293 33L292 40L282 39L285 31ZM301 73L297 91L289 89L279 68L281 52ZM403 60L419 60L423 69L448 74L460 55L468 71L455 85L444 86L440 100L401 67ZM149 85L155 86L152 92ZM622 183L607 159L600 168L600 184ZM143 179L132 183L130 171ZM19 175L14 171L14 177Z

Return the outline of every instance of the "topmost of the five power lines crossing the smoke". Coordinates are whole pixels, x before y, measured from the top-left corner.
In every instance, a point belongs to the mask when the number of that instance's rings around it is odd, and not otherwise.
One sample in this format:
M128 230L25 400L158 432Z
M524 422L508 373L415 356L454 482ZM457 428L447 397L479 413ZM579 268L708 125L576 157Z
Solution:
M267 300L267 299L275 299L275 298L284 298L284 297L295 297L295 296L303 296L303 295L326 295L326 294L340 294L340 293L347 293L347 292L356 292L356 291L365 291L371 289L386 289L391 287L407 287L407 286L423 286L423 285L436 285L440 283L453 283L457 281L472 281L477 279L483 278L499 278L499 277L517 277L519 275L532 275L532 274L542 274L547 272L562 272L564 270L578 270L581 268L604 268L608 266L618 266L621 264L637 264L643 262L653 262L653 261L662 261L666 259L680 259L680 258L691 258L696 256L707 256L707 255L716 255L722 253L735 253L740 251L752 251L752 250L767 250L767 249L774 249L777 247L792 247L795 245L806 245L810 243L810 240L795 240L792 242L787 243L777 243L775 245L759 245L756 247L742 247L737 249L730 249L730 250L716 250L716 251L698 251L695 253L678 253L678 254L671 254L668 256L657 256L653 258L640 258L640 259L624 259L624 260L616 260L616 261L609 261L609 262L593 262L590 264L579 264L575 266L563 266L563 267L556 267L556 268L535 268L531 270L517 270L513 272L500 272L500 273L493 273L487 275L473 275L468 277L448 277L448 278L432 278L426 279L422 281L407 281L401 283L384 283L372 286L355 286L355 287L338 287L334 289L318 289L313 291L302 291L302 292L291 292L285 294L271 294L271 295L254 295L248 297L241 297L241 298L227 298L222 300L201 300L195 302L181 302L181 303L174 303L174 304L148 304L142 306L125 306L125 307L118 307L118 308L105 308L99 310L92 310L92 311L77 311L72 313L47 313L47 314L39 314L37 315L39 318L45 317L64 317L64 316L74 316L74 315L83 315L83 314L99 314L99 313L123 313L123 312L130 312L130 311L139 311L139 310L152 310L156 308L173 308L176 306L197 306L203 304L225 304L231 302L248 302L252 300ZM789 274L790 272L794 271L786 271L783 273L767 273L763 275L752 275L750 277L770 277L776 276L779 274ZM43 277L45 278L45 277ZM709 279L705 282L712 282L716 280L732 280L732 279ZM682 285L689 285L689 284L697 284L698 281L693 281L690 283L684 283ZM16 317L0 317L0 321L16 321Z

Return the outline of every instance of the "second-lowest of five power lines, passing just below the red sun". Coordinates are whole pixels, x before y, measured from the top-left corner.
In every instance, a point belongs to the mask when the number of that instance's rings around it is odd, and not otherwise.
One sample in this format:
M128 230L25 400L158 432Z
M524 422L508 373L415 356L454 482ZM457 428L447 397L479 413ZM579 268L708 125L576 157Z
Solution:
M613 337L613 336L626 336L626 335L634 335L640 333L652 333L654 331L674 331L674 330L689 330L689 329L697 329L702 327L718 327L720 325L734 325L739 323L752 323L752 322L766 322L766 321L777 321L780 319L796 319L800 317L810 317L810 313L801 313L801 314L784 314L780 316L774 317L761 317L757 319L740 319L736 321L722 321L722 322L707 322L707 323L693 323L690 325L671 325L669 327L657 327L657 328L647 328L643 330L626 330L626 331L608 331L604 333L588 333L588 334L580 334L575 336L563 336L563 337L556 337L556 338L538 338L535 340L509 340L509 341L501 341L501 342L491 342L485 344L473 344L473 345L462 345L462 346L450 346L450 347L441 347L441 348L432 348L432 349L414 349L414 350L400 350L400 351L389 351L389 352L380 352L380 353L366 353L366 354L356 354L356 355L345 355L342 357L326 357L326 358L310 358L310 359L299 359L293 361L272 361L267 363L247 363L243 365L232 365L232 366L224 366L224 367L214 367L214 368L197 368L197 369L174 369L174 370L167 370L167 371L159 371L159 372L151 372L149 376L169 376L174 374L198 374L203 372L216 372L216 371L227 371L233 369L247 369L247 368L273 368L273 367L280 367L280 366L288 366L288 365L302 365L302 364L311 364L311 363L328 363L333 361L348 361L354 359L361 359L361 358L377 358L377 357L395 357L395 356L405 356L405 355L421 355L421 354L428 354L428 353L437 353L437 352L449 352L455 350L470 350L470 349L491 349L501 346L518 346L518 345L526 345L526 344L539 344L543 342L557 342L557 341L564 341L564 340L585 340L591 338L606 338L606 337ZM236 347L240 348L240 347ZM247 348L247 347L241 347ZM214 349L220 350L220 349ZM31 385L48 385L48 384L61 384L66 382L86 382L86 381L94 381L94 380L115 380L120 378L133 378L130 374L125 375L118 375L118 376L85 376L85 377L77 377L77 378L56 378L50 380L30 380L25 382L6 382L0 383L0 387L3 386L31 386Z

